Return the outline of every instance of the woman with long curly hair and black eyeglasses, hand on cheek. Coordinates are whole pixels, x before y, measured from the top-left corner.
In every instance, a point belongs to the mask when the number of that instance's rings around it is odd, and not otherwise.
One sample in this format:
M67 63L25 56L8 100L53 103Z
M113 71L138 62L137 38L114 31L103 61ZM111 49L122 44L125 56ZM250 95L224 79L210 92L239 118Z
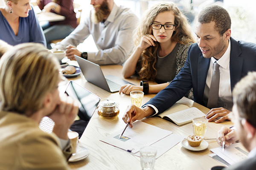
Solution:
M188 48L195 42L191 26L175 3L161 2L145 11L135 31L134 52L123 65L123 77L138 74L141 79L158 85L148 85L146 81L142 81L141 86L124 85L119 94L135 90L158 93L169 85L185 63Z

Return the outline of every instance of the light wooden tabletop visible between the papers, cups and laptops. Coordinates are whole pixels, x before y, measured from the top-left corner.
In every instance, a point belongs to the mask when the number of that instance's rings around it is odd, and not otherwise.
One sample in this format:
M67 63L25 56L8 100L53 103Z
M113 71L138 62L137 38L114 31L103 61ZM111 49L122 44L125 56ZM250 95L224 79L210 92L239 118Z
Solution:
M77 65L74 62L72 64ZM113 74L124 79L121 75L122 66L120 65L106 65L101 66L101 68L105 75ZM102 99L107 97L115 99L119 102L120 113L119 116L114 119L103 119L98 116L97 112L94 113L79 141L82 146L87 147L90 150L90 155L84 160L69 163L70 168L77 170L141 170L139 157L133 156L128 152L111 146L110 144L99 141L100 139L103 139L104 137L125 127L125 123L122 121L122 116L125 113L127 106L131 104L130 96L119 93L111 94L87 82L82 75L72 80L79 83L84 88L87 88ZM140 80L136 77L125 80L135 85L140 84ZM154 94L145 95L143 98L143 104L152 97L154 97ZM204 113L209 111L208 108L205 108L204 106L185 97L178 102L188 105L189 107L196 107ZM142 121L165 130L170 130L175 134L185 137L193 134L192 123L179 127L170 121L161 119L158 116L144 118ZM219 124L209 122L205 137L216 138L217 131L222 126L230 127L232 125L233 124L230 121ZM180 143L177 144L156 160L154 170L209 170L213 166L222 165L215 159L208 156L212 153L209 149L219 147L219 145L215 140L208 140L207 142L209 142L209 147L206 150L197 152L186 150Z

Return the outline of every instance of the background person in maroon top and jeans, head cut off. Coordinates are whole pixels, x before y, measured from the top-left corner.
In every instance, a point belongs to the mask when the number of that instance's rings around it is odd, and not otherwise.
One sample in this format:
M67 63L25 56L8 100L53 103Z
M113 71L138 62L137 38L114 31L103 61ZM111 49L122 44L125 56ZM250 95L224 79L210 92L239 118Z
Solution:
M52 49L50 45L52 40L66 38L78 25L73 0L37 0L36 2L41 10L65 17L64 21L47 22L42 25L47 48Z

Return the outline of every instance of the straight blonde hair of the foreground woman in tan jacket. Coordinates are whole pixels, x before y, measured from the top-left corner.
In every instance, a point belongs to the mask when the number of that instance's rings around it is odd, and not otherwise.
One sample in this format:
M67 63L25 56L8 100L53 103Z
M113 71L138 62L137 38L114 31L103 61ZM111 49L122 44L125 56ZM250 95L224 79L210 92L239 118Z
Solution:
M16 45L0 59L0 110L38 111L58 81L59 63L44 45Z

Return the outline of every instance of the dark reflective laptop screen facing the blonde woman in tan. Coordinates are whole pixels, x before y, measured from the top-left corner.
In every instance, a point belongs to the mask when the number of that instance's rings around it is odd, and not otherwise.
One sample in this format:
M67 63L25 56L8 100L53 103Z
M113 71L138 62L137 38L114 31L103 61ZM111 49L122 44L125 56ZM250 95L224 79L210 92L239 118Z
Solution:
M73 81L70 81L65 93L79 101L79 118L89 121L99 104L100 98Z

